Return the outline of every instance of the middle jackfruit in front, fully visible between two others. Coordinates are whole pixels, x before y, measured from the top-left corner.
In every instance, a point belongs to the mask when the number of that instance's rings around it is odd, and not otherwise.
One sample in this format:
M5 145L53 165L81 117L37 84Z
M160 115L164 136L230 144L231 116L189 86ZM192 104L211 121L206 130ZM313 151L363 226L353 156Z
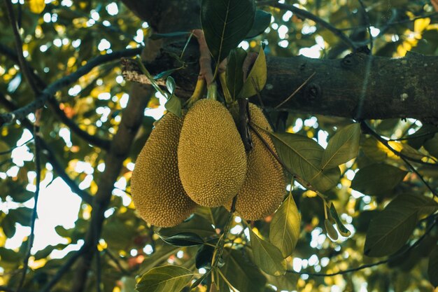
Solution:
M246 174L246 153L236 124L220 102L201 99L185 116L178 145L178 168L185 191L205 207L234 197Z

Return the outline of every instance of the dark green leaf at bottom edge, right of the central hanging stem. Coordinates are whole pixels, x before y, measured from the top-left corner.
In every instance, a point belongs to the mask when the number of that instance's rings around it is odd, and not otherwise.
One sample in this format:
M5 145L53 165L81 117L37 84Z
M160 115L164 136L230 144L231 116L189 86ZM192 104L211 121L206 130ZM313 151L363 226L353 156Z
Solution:
M243 249L225 249L223 259L224 265L220 270L237 290L264 291L266 278L253 263L250 263Z

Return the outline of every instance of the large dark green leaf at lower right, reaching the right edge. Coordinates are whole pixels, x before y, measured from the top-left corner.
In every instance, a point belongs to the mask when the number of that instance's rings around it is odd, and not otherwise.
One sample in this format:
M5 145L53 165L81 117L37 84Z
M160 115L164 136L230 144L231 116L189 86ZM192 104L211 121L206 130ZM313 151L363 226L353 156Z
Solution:
M421 195L399 195L369 223L365 239L366 256L389 256L407 242L418 218L428 211L438 209L438 204Z

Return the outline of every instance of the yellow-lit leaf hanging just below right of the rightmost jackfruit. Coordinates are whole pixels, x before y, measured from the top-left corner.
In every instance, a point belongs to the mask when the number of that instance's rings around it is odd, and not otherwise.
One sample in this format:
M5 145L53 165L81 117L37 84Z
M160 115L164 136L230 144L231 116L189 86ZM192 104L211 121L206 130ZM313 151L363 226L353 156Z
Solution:
M283 258L292 254L299 239L301 218L292 197L283 201L269 227L269 241L280 249Z

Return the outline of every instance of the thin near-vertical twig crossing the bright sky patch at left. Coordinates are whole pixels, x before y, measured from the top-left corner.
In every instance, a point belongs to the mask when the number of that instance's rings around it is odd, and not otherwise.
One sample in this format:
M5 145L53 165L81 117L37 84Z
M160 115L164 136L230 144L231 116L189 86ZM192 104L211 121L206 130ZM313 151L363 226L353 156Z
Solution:
M36 188L34 194L35 204L34 204L34 209L32 210L30 235L29 235L29 241L27 243L26 256L24 257L22 277L20 279L20 284L18 284L17 292L20 292L24 285L24 279L26 279L27 269L29 268L29 258L31 256L31 249L32 246L34 246L36 207L38 205L38 197L39 197L40 183L41 183L41 156L40 156L41 146L40 146L40 131L39 131L41 111L40 110L36 111L35 116L36 116L36 122L34 125L34 139L35 139L34 155L35 155L35 172L36 172L36 179L35 179Z

